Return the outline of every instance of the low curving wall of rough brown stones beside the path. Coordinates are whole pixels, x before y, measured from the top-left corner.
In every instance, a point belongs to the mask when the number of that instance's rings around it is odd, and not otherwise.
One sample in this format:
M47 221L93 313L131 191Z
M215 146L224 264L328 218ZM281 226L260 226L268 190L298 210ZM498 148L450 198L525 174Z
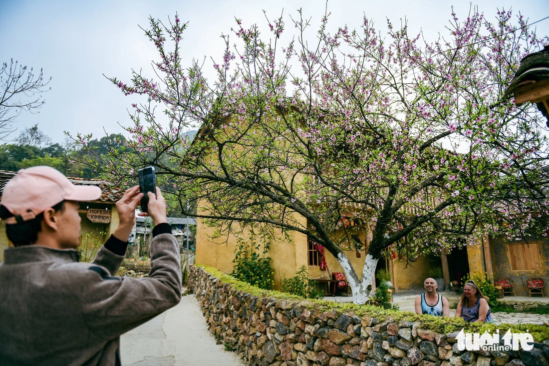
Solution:
M456 333L421 329L419 321L380 321L313 303L259 297L191 267L191 289L215 337L249 365L541 366L549 341L531 351L459 351ZM455 319L458 320L458 319Z

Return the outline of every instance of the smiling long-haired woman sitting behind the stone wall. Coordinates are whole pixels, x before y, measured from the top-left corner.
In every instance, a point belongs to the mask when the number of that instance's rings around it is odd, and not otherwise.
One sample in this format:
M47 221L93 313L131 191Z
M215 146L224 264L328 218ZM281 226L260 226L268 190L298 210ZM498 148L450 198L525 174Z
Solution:
M476 321L492 323L488 300L489 298L483 295L475 282L471 280L465 282L463 296L457 304L456 317L462 317L468 323Z

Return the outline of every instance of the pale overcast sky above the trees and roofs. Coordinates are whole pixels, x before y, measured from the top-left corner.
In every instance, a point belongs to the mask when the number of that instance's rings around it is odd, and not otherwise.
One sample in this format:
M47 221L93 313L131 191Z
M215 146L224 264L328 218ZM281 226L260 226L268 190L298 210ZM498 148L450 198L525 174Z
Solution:
M384 29L385 19L395 24L408 19L414 32L423 30L435 37L444 33L451 13L452 2L438 0L331 0L332 26L361 25L362 16L373 19ZM469 2L453 1L460 19L467 17ZM512 8L521 12L530 23L549 16L546 0L484 0L473 2L490 20L497 8ZM139 25L146 28L149 16L167 20L178 12L188 21L184 36L184 50L188 59L208 57L205 68L211 68L209 57L219 59L223 50L221 34L230 34L234 17L244 25L265 25L262 10L273 19L296 15L296 9L312 16L318 25L324 12L323 1L312 0L0 0L0 62L11 58L36 69L43 68L44 76L52 81L51 90L44 93L46 104L40 113L19 115L19 129L38 124L53 142L63 142L64 131L71 134L92 133L94 137L122 132L121 125L130 124L127 108L136 102L125 97L107 76L130 81L132 69L143 69L152 76L151 61L156 57L154 45L145 38ZM287 24L290 19L287 18ZM549 35L549 19L535 25L538 35ZM265 28L264 28L265 29ZM266 31L266 29L265 29ZM285 32L291 32L287 27ZM15 138L19 131L10 138Z

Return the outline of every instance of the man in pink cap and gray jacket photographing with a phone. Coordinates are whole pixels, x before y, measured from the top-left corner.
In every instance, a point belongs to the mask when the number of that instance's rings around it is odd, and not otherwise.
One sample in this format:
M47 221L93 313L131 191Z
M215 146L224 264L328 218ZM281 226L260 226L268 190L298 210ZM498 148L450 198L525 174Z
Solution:
M180 301L179 251L158 188L142 214L155 225L148 278L114 276L143 197L137 186L116 202L120 224L93 263L78 262L78 201L100 195L50 167L22 169L4 187L0 217L14 247L0 263L0 364L120 365L120 335Z

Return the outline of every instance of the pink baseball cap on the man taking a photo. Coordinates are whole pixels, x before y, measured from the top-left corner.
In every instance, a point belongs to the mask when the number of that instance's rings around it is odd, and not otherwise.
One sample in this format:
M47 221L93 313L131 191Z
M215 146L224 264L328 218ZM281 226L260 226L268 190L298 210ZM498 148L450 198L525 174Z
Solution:
M21 169L5 185L0 204L14 217L4 220L16 224L31 220L61 201L93 201L101 196L97 186L74 185L52 167Z

